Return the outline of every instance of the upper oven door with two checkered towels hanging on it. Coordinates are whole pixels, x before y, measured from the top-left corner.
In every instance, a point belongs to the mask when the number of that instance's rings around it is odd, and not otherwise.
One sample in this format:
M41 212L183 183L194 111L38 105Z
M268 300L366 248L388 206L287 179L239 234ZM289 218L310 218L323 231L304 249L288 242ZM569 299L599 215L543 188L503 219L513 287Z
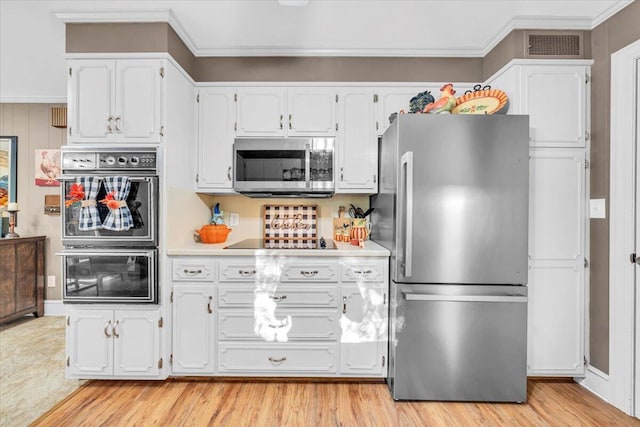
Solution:
M62 243L157 246L157 176L65 175Z

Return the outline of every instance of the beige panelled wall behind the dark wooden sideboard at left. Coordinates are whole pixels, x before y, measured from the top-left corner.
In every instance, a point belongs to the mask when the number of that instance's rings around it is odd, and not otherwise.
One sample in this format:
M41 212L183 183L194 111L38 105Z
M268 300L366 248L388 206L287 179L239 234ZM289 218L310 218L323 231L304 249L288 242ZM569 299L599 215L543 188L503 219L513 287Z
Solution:
M61 298L60 262L55 255L62 249L60 216L44 214L44 196L59 194L60 187L37 187L35 150L59 149L66 143L66 129L51 127L51 107L58 104L0 104L0 135L18 137L18 226L20 236L47 236L45 264L47 275L55 275L56 287L45 288L45 298Z

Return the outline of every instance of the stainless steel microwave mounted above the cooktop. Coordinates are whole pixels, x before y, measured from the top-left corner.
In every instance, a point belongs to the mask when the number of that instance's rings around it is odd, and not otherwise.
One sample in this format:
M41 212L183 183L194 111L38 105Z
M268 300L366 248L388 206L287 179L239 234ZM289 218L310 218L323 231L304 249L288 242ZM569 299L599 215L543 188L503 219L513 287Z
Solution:
M236 139L233 188L249 197L331 197L334 138Z

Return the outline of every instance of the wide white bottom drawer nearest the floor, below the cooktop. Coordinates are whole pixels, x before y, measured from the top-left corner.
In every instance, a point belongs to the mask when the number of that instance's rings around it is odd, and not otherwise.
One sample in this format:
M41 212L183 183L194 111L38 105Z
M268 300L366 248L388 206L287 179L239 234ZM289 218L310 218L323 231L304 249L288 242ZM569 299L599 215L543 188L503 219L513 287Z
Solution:
M218 372L335 373L336 344L221 343Z

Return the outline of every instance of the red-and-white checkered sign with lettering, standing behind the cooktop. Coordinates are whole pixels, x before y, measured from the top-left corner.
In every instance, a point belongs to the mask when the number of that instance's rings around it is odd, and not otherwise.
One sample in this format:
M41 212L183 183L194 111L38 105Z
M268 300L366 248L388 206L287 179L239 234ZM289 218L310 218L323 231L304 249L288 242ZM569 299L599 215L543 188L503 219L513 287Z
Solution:
M315 242L318 239L317 205L264 205L266 241Z

